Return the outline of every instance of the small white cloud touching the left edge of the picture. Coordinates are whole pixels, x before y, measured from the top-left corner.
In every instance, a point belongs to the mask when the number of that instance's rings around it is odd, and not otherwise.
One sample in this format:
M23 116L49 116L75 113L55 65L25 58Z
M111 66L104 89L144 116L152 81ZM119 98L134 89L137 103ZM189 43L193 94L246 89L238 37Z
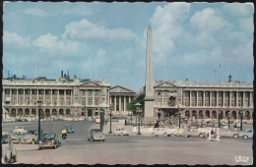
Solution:
M4 31L3 35L3 43L9 44L13 48L23 48L31 45L30 40L28 38L20 36L17 33Z

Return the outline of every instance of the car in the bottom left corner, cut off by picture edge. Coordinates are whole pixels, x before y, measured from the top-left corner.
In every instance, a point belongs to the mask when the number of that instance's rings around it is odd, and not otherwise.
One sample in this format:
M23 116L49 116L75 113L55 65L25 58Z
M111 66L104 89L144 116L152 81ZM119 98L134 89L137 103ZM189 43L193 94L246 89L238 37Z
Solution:
M2 144L2 162L13 163L16 162L16 148L13 145L9 135L3 135L1 139Z

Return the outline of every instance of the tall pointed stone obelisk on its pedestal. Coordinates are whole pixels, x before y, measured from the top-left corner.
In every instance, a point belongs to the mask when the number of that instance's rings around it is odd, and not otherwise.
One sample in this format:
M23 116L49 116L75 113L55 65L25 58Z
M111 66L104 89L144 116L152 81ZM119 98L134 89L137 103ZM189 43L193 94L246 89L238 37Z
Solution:
M146 49L146 84L145 84L145 115L144 121L151 122L154 119L154 79L153 79L153 40L152 29L147 29L147 49Z

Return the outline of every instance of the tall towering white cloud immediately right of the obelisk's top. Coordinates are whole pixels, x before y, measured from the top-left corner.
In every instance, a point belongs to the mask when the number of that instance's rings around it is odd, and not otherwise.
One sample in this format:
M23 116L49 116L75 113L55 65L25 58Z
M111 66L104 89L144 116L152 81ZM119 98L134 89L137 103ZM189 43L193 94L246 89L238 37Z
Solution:
M154 29L154 50L159 56L167 55L175 48L174 40L182 35L181 23L189 9L188 3L169 3L155 10L151 24Z

